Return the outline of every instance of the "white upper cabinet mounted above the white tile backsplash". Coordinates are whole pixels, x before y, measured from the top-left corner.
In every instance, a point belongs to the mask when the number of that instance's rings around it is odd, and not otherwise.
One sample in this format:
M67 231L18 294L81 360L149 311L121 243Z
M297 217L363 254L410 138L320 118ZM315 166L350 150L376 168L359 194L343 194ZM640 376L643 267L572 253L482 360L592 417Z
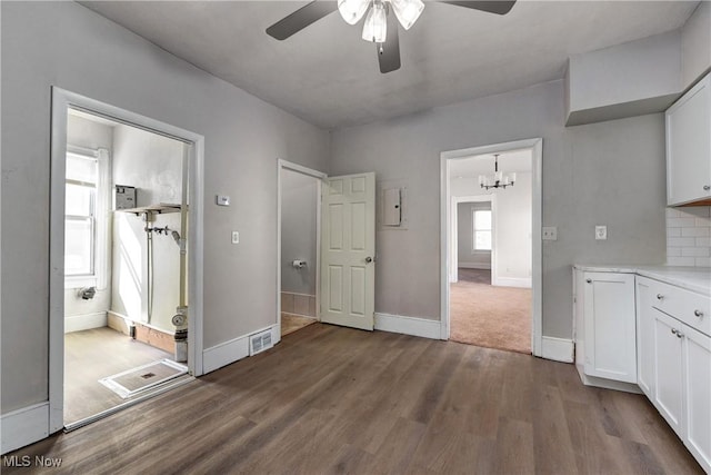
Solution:
M667 204L711 205L711 75L665 116Z

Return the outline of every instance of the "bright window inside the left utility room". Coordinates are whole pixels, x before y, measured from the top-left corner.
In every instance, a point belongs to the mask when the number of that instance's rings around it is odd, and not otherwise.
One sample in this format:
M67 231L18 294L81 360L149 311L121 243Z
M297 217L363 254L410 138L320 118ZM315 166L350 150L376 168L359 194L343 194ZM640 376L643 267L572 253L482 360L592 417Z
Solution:
M106 284L107 174L108 150L67 152L64 182L66 287L103 287Z

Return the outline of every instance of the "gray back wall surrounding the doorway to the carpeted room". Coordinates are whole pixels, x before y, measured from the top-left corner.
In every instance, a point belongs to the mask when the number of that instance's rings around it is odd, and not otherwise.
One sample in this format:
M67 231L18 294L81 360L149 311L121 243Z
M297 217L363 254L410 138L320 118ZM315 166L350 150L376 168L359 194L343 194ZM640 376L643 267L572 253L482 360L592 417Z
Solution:
M552 81L333 132L332 175L410 184L410 229L378 234L375 311L440 318L444 150L543 138L543 226L558 226L543 246L543 335L572 336L573 263L664 260L663 116L565 129L563 96ZM609 226L607 241L595 224Z

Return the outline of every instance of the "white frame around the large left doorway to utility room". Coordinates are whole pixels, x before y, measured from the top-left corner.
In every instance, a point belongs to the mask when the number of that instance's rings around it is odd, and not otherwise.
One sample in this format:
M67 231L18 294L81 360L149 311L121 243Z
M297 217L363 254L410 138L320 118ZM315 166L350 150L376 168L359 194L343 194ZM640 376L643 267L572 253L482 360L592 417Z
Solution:
M49 277L49 433L64 426L64 176L67 113L69 108L122 122L188 145L190 175L188 211L188 367L194 376L202 367L203 306L203 150L204 137L119 107L52 87L52 136L50 179L50 277Z

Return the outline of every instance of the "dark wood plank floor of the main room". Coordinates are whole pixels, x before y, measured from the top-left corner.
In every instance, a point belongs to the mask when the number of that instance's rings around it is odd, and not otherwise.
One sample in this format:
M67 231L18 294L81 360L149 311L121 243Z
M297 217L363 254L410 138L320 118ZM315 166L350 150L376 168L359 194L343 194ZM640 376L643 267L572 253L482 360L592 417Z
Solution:
M80 474L702 473L643 396L572 365L323 324L16 455Z

